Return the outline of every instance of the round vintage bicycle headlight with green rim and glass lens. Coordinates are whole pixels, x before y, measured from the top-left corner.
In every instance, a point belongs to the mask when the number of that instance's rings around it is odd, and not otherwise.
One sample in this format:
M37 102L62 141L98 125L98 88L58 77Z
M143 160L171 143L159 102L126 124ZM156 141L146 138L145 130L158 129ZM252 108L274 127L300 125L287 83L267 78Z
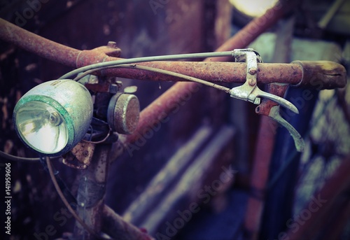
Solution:
M22 141L44 155L62 155L85 136L92 120L90 92L73 80L52 80L27 92L13 111Z

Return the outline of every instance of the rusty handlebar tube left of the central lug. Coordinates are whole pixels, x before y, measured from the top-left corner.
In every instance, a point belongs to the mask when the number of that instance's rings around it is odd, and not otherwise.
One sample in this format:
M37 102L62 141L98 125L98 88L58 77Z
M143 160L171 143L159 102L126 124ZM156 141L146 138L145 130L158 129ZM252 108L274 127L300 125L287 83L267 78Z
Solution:
M80 50L55 43L0 18L0 38L60 64L76 67Z

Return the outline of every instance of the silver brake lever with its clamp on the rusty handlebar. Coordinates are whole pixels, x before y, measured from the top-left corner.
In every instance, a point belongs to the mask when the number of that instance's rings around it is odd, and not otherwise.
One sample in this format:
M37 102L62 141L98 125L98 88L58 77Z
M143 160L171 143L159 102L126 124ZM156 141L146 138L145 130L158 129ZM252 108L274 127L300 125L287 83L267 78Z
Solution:
M288 85L272 83L270 85L274 87L269 87L269 92L264 92L257 85L258 62L262 62L258 52L252 48L236 49L232 51L232 57L235 58L235 62L246 62L246 82L239 87L233 87L229 92L230 96L259 105L255 112L260 115L267 115L274 121L279 122L283 127L286 127L294 139L297 151L301 152L304 150L304 141L300 134L279 114L279 105L284 106L294 113L299 113L290 101L283 99ZM265 98L262 101L263 104L260 104L260 97Z

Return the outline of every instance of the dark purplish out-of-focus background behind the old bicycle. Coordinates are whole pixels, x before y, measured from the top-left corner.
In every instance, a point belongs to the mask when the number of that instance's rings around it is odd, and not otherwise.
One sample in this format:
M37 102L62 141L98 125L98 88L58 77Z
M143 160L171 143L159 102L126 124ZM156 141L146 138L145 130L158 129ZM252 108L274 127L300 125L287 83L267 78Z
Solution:
M121 57L130 58L214 51L275 4L265 0L3 0L0 17L78 50L116 41ZM307 0L292 5L249 47L257 50L264 62L330 60L343 64L349 72L350 2ZM264 24L261 22L261 26ZM71 70L0 41L0 150L36 157L15 134L13 108L35 85ZM174 84L118 80L125 86L137 85L141 109ZM306 149L297 153L288 132L277 128L271 162L261 169L268 179L255 239L288 239L286 232L294 234L303 226L311 226L310 230L318 233L309 239L350 239L350 208L346 204L349 184L344 187L347 194L344 190L341 200L335 200L341 204L332 209L328 220L307 225L307 220L316 216L309 210L312 196L337 173L337 167L349 161L349 86L310 90L307 97L304 91L290 88L286 98L300 111L287 117L304 137ZM259 122L253 104L202 87L183 101L179 111L169 115L169 122L141 143L132 156L125 153L113 162L106 204L157 239L250 239L244 219L248 199L253 195L250 182L258 159L254 153ZM13 194L12 232L6 239L59 239L64 232L72 232L74 220L63 214L64 205L41 163L1 159L3 175L5 162L12 166ZM75 195L79 170L61 160L55 162L55 167ZM175 174L171 178L162 176L167 171ZM222 181L222 174L229 176L228 181ZM347 183L349 177L340 181ZM162 188L161 194L152 197L158 187ZM197 204L196 210L184 217L193 203ZM54 234L40 235L48 225L54 227Z

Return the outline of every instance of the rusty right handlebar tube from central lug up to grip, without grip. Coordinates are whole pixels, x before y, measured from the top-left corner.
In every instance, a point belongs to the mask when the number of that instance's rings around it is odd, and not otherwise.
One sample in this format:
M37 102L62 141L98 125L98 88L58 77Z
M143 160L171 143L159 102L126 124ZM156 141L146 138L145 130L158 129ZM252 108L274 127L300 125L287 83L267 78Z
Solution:
M122 58L106 57L103 52L84 50L77 59L77 67L92 63L118 61ZM215 61L216 58L211 58ZM202 80L217 83L244 83L246 80L246 64L240 62L141 62L141 66L174 71ZM260 83L290 83L302 81L303 69L300 64L259 64L258 81ZM105 69L99 74L139 80L183 81L182 78L165 76L160 73L138 69Z

